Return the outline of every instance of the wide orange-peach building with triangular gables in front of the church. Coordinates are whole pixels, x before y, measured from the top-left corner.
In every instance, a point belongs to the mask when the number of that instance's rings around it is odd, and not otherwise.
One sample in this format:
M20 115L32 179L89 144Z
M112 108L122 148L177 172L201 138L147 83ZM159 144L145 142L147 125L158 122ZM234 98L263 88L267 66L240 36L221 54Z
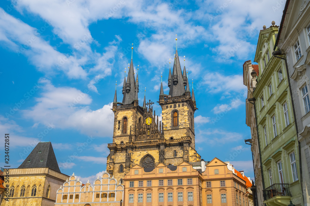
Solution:
M246 181L218 158L203 173L187 162L177 166L159 163L147 169L135 165L123 180L128 206L249 205Z

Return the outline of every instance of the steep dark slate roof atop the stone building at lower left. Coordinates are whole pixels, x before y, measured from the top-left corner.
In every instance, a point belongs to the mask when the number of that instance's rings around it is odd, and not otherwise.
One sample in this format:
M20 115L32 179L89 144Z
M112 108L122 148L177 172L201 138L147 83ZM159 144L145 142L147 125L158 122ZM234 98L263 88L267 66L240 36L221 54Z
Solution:
M41 160L43 161L41 162ZM60 172L51 142L39 142L18 168L40 167L48 167Z

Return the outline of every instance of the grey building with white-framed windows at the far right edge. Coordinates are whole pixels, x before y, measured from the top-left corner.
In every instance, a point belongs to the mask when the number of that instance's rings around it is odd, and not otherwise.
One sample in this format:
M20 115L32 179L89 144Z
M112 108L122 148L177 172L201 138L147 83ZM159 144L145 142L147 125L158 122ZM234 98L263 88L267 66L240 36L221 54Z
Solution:
M287 1L285 8L276 44L286 57L300 142L299 179L304 205L310 206L310 109L309 94L303 93L310 91L310 1Z

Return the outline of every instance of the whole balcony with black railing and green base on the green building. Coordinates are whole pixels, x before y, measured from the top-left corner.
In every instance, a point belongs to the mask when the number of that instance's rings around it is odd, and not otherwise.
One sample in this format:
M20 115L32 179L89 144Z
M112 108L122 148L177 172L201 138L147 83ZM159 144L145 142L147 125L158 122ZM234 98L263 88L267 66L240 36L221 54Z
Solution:
M263 190L264 203L290 204L291 193L289 187L289 184L273 184L267 187Z

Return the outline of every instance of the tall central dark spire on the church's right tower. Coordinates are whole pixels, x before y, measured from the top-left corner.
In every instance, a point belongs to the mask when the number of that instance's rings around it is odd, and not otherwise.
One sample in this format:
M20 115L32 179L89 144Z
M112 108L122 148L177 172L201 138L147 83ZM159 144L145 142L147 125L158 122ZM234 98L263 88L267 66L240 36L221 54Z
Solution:
M185 87L183 84L182 70L178 55L178 50L175 51L175 62L172 71L172 84L170 86L169 95L171 97L181 96L185 92Z

